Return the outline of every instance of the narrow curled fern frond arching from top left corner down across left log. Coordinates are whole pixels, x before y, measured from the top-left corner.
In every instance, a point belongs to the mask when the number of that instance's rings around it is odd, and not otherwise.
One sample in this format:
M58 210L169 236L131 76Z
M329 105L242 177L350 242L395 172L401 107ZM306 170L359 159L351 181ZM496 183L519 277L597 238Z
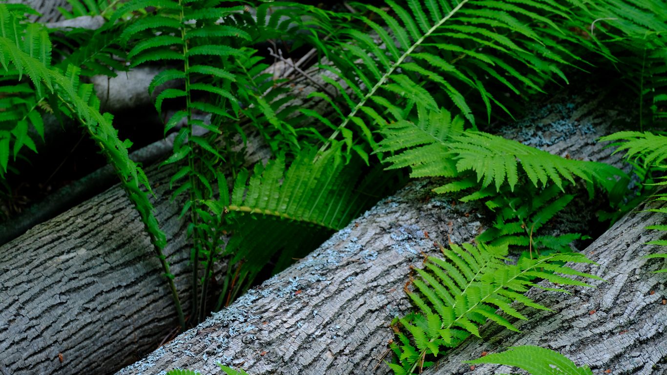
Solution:
M166 237L159 229L159 224L153 215L153 205L143 190L151 192L148 179L143 170L129 159L127 153L132 143L118 138L117 130L112 125L113 116L99 112L99 99L93 93L93 86L80 83L77 67L69 65L67 71L63 73L51 65L51 43L47 31L40 25L22 21L23 18L11 12L7 5L0 4L0 64L5 72L18 75L19 81L23 80L25 74L33 84L37 97L49 95L49 101L55 102L51 107L57 107L63 115L77 120L85 127L91 139L99 145L101 152L115 168L123 189L141 216L155 255L160 259L165 274L170 276L169 264L161 252L166 246ZM38 119L39 115L31 117L30 113L26 112L25 115L43 136L43 125L41 119ZM20 120L16 124L17 128L22 130L5 131L4 137L0 140L0 166L5 171L11 135L17 137L14 143L15 149L17 143L25 144L28 139L25 132L26 120ZM18 148L20 149L20 146ZM173 281L169 279L169 283L175 295ZM177 304L177 300L175 302Z

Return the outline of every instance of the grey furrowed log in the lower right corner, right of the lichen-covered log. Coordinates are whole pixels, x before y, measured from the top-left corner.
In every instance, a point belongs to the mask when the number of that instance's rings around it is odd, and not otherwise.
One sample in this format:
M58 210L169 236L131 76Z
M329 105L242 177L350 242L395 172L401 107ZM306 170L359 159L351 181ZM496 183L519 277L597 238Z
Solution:
M574 266L606 282L590 283L595 288L567 288L572 296L531 290L536 302L556 312L524 308L521 312L530 320L518 325L522 333L487 326L481 330L484 340L468 340L424 375L510 373L508 366L498 365L471 370L462 361L517 345L551 348L578 366L590 366L596 375L666 374L667 277L650 273L665 265L663 260L642 258L665 252L664 247L646 245L663 238L664 233L644 229L664 220L664 214L654 212L626 215L584 250L600 266Z

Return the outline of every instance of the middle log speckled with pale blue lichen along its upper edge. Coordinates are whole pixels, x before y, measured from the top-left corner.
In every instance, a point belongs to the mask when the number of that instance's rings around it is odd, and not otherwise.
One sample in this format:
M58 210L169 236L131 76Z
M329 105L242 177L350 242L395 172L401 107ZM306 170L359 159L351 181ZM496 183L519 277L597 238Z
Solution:
M618 165L610 149L595 143L620 117L600 103L580 97L548 105L504 135ZM455 206L431 196L430 187L413 181L297 264L119 374L172 368L215 374L217 363L252 375L390 373L377 365L394 338L390 320L410 308L403 292L408 266L419 264L422 253L434 254L434 241L468 242L483 226L476 206ZM592 209L584 204L577 210L584 215Z

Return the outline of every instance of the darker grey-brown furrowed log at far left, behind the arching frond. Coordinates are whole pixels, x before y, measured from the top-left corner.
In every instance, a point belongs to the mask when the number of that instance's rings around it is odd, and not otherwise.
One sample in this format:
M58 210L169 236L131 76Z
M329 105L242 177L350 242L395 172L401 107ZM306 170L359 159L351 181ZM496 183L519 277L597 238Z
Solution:
M314 90L303 77L291 83L299 103ZM327 115L321 101L306 105ZM249 137L247 165L267 157L262 144ZM187 311L189 246L182 202L169 200L174 171L146 169ZM118 185L0 246L0 374L106 374L135 362L177 327L162 273Z

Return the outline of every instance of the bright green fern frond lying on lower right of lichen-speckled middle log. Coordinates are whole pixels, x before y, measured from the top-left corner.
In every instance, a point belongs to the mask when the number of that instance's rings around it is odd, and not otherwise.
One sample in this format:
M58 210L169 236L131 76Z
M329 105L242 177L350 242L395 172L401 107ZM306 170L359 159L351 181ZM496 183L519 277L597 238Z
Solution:
M452 244L450 250L442 246L441 250L445 258L426 258L424 270L416 269L419 278L412 280L415 290L406 288L420 312L395 320L412 336L410 339L398 331L401 344L392 344L401 361L401 364L390 364L395 374L421 372L423 367L432 365L427 356L438 356L471 334L480 336L479 326L487 320L518 331L498 312L526 320L526 316L511 306L513 302L550 311L524 296L540 279L576 286L590 285L570 276L600 280L598 276L563 265L565 262L593 263L581 254L524 257L517 264L508 264L507 246L464 244L462 248ZM560 288L550 290L566 292Z

